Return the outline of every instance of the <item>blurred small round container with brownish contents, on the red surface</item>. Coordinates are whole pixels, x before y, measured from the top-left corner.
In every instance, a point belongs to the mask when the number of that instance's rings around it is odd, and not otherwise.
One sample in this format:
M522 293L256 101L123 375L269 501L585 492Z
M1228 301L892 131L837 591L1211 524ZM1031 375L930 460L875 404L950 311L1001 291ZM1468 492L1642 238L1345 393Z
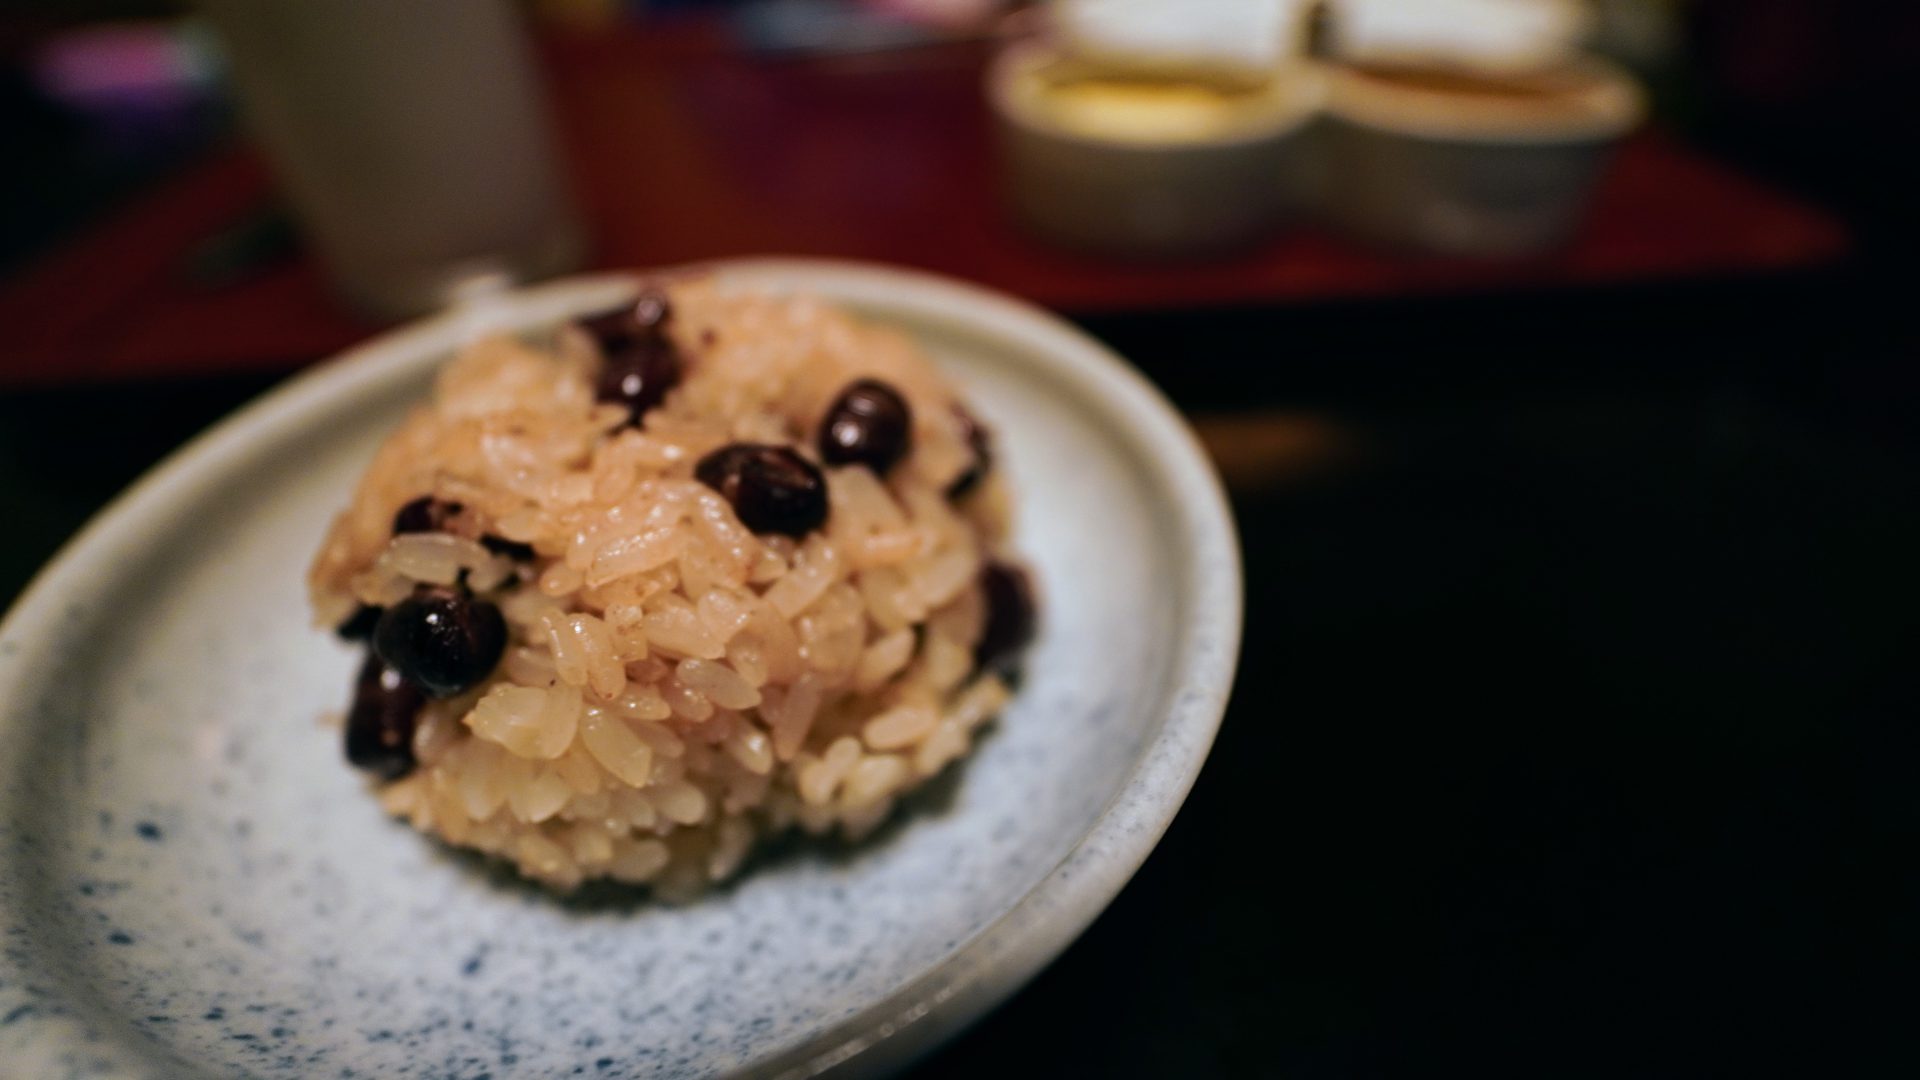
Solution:
M1644 115L1634 77L1586 56L1528 75L1336 65L1321 213L1392 248L1538 254L1572 236Z

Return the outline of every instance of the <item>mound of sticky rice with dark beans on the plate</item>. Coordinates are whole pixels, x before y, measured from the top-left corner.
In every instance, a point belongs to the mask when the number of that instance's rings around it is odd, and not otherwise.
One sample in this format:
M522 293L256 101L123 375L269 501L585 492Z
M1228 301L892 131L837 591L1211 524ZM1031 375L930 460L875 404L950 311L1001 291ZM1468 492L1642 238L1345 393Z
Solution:
M831 463L860 380L904 446ZM701 473L735 444L816 469L824 521L749 528ZM856 838L1008 700L1033 611L989 465L910 340L806 298L657 282L478 340L309 573L319 621L372 642L348 755L390 813L559 888L687 896L762 836Z

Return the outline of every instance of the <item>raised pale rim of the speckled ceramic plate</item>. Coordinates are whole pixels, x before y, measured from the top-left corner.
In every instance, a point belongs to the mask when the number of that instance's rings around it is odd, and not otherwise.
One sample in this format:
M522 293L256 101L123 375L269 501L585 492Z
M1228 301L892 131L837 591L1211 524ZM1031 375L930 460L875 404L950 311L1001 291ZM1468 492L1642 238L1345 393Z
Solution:
M781 288L814 288L829 302L908 309L941 323L985 325L1021 338L1048 375L1066 380L1081 402L1125 421L1119 438L1152 469L1154 486L1181 492L1167 500L1167 527L1183 555L1175 594L1187 600L1175 626L1169 663L1167 713L1140 748L1114 796L1085 834L1014 903L995 915L929 969L910 976L851 1017L776 1047L745 1076L803 1080L858 1059L858 1067L904 1065L939 1045L989 1007L1012 995L1052 963L1140 869L1173 822L1206 763L1219 730L1238 665L1244 617L1240 544L1225 488L1198 438L1173 405L1114 350L1062 317L1002 292L927 271L852 259L732 258L641 271L599 271L488 294L467 306L382 331L269 388L215 421L146 469L96 511L40 567L0 617L0 642L44 642L56 634L63 586L109 559L119 538L154 513L165 513L175 492L196 477L246 455L284 423L323 411L340 398L371 392L371 384L417 375L436 356L444 336L472 334L495 321L538 325L582 307L582 296L616 294L659 273L707 271L720 281ZM419 357L413 357L419 354ZM411 359L396 359L411 357ZM29 680L27 665L0 663L0 696L12 698ZM6 742L0 730L0 742ZM12 965L0 965L12 967ZM50 1038L60 1038L48 1030ZM902 1038L904 1036L904 1038Z

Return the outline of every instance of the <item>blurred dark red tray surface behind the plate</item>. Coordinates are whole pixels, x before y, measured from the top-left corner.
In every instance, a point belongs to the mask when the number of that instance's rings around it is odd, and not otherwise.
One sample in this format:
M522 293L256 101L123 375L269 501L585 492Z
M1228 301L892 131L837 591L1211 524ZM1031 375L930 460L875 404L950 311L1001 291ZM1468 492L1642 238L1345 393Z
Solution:
M764 60L684 25L551 38L543 56L601 267L881 259L1112 313L1768 273L1847 248L1828 213L1649 133L1620 150L1574 244L1548 258L1390 256L1300 229L1225 259L1108 261L1006 219L981 48ZM31 267L0 290L0 382L273 371L376 331L305 258L223 288L182 273L267 198L261 163L232 148Z

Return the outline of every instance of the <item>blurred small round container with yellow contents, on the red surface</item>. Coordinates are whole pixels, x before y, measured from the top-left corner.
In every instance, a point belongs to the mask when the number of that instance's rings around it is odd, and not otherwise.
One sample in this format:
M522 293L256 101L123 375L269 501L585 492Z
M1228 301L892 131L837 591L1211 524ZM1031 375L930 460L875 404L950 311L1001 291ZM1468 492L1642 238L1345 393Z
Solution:
M1217 100L1210 100L1213 94ZM1269 234L1304 200L1311 71L1106 71L1039 42L987 73L1012 211L1081 250L1187 256Z

